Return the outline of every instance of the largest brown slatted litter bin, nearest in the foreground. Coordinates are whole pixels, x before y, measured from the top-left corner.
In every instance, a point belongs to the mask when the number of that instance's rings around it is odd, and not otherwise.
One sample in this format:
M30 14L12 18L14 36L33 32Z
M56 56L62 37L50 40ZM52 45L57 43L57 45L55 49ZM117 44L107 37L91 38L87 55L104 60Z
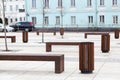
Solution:
M79 69L81 73L92 73L94 70L94 43L81 42L79 45Z

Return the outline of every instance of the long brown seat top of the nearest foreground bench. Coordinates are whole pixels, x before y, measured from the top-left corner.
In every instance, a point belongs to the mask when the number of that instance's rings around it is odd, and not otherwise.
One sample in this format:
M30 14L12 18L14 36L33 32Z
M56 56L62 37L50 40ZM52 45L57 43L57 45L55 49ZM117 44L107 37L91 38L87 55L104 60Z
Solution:
M21 61L55 61L63 55L0 55L0 60L21 60Z

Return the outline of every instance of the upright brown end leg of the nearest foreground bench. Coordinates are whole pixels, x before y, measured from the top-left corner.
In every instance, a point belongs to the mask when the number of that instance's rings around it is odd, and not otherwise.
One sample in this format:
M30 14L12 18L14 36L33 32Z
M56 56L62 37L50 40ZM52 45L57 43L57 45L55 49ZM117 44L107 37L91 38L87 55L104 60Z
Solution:
M64 71L64 55L55 61L55 73L62 73Z

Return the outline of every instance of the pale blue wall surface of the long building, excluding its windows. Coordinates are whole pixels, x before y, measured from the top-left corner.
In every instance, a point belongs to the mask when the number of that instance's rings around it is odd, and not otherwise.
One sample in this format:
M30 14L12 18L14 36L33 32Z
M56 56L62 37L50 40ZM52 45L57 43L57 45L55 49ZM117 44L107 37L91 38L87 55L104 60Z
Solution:
M42 1L36 0L36 9L32 9L32 0L25 0L26 16L28 21L32 21L32 17L37 18L36 27L42 27ZM45 16L49 17L49 25L45 27L56 26L56 16L60 16L57 10L58 0L49 0L49 9ZM87 7L87 0L76 0L75 10L71 8L71 0L63 0L63 26L64 27L119 27L120 26L120 0L117 0L117 7L112 6L112 0L104 0L104 6L100 6L100 0L92 0L92 7ZM99 23L99 16L104 15L105 23ZM118 16L118 24L113 24L113 16ZM71 25L71 16L76 16L76 25ZM93 16L93 24L89 25L88 16Z

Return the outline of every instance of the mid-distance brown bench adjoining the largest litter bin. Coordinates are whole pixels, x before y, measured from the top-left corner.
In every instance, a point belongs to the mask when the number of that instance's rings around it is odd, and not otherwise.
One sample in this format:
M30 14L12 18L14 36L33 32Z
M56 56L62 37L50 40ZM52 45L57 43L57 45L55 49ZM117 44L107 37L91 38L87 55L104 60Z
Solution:
M46 42L46 52L50 52L52 45L79 45L80 42Z

